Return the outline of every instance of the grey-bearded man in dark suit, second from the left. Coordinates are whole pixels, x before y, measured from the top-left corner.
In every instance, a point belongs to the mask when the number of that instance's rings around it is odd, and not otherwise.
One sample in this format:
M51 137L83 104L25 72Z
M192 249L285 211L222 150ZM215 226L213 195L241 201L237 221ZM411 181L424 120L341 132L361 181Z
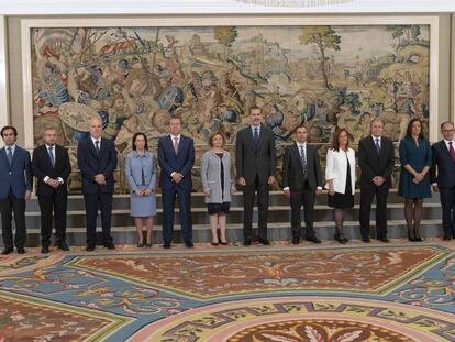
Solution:
M32 159L41 209L41 253L49 253L53 212L57 246L62 251L69 251L66 244L66 183L71 173L68 151L56 145L57 131L54 128L44 130L43 141L44 144L33 151Z

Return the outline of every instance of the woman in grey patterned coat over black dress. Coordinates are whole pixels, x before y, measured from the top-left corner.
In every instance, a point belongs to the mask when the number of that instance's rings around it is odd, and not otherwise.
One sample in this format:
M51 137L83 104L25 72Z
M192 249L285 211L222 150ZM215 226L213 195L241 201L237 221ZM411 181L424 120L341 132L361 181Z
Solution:
M226 245L226 214L234 194L234 173L231 155L224 150L226 139L214 132L209 136L211 150L202 155L201 180L212 229L212 245ZM220 241L217 229L220 228Z

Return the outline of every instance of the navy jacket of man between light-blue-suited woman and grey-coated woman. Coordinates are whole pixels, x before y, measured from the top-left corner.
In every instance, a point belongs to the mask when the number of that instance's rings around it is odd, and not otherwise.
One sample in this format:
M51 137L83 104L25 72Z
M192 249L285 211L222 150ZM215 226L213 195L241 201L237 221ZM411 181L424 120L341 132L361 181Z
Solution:
M191 137L180 135L176 154L170 135L162 136L158 140L158 163L162 168L159 186L163 189L170 189L175 186L191 189L191 169L195 165L195 142ZM179 184L174 183L170 177L174 172L184 175Z

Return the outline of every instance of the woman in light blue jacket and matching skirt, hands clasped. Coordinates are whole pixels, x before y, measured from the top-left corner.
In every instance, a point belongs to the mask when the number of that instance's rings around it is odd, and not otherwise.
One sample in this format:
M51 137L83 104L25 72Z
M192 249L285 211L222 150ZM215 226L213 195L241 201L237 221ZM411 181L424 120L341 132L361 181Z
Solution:
M153 216L156 214L155 183L156 161L148 152L147 137L144 133L133 136L133 151L125 161L125 176L130 186L131 216L137 230L137 246L143 247L143 220L147 228L146 246L152 247Z

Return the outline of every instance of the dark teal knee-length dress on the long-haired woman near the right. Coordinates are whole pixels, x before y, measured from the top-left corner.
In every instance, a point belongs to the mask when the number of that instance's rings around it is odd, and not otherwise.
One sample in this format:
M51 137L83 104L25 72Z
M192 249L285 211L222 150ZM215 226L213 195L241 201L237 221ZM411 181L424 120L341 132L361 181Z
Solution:
M410 165L418 173L422 172L425 166L431 167L432 154L431 146L426 140L419 140L419 145L413 139L404 137L400 142L400 183L398 186L398 195L406 198L430 198L430 173L426 173L421 183L413 183L412 174L404 169L404 165Z

